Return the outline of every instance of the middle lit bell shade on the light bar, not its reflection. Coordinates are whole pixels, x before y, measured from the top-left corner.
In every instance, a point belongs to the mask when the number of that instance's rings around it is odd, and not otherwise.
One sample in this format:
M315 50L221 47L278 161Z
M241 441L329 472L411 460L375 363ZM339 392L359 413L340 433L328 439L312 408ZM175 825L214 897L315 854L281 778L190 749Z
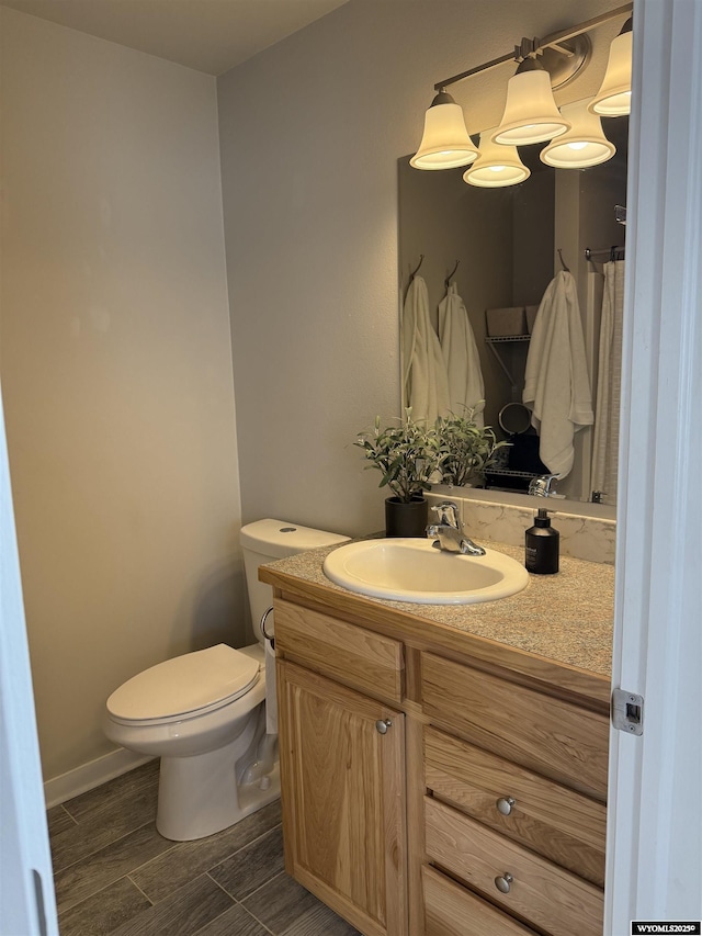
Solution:
M507 103L492 137L495 143L510 146L542 143L569 128L570 124L561 115L553 99L548 72L544 68L518 69L507 84Z

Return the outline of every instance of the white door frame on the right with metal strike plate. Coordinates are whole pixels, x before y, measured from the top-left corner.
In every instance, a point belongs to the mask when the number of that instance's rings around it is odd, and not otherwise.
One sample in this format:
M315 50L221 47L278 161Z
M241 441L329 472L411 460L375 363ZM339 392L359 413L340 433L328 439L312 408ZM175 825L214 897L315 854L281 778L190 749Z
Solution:
M635 0L605 936L702 917L702 2ZM604 123L604 122L603 122Z

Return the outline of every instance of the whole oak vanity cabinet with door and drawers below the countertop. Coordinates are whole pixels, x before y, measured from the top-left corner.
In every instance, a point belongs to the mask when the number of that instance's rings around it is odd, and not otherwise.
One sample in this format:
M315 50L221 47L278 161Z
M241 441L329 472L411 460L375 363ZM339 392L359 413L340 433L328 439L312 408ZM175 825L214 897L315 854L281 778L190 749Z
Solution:
M287 871L365 936L601 936L605 678L269 580Z

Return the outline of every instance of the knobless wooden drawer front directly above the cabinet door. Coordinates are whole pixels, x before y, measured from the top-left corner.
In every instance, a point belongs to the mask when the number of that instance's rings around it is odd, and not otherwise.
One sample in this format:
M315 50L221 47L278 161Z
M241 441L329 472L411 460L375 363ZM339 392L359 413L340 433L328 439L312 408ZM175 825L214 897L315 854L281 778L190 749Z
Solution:
M353 689L401 701L403 644L392 638L276 599L275 649Z

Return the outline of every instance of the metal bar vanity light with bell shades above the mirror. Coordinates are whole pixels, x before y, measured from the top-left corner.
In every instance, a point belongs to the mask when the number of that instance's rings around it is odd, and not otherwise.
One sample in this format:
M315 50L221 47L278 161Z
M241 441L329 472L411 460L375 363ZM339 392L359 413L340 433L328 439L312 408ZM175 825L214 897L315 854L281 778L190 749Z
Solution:
M507 55L439 81L434 84L438 94L424 119L421 145L409 160L410 165L416 169L449 169L466 166L476 159L477 151L467 134L463 111L446 93L446 88L508 61L517 61L519 67L508 83L505 114L500 125L494 131L492 142L521 146L567 134L571 128L570 122L563 111L558 111L553 100L553 89L563 88L587 67L592 48L587 33L602 23L631 13L632 9L631 2L625 3L609 13L552 33L544 38L523 38L521 44ZM622 42L615 45L619 38L622 38ZM614 55L614 50L624 50L626 43L631 48L631 29L627 30L626 24L618 40L612 43L610 53L612 67L616 63L616 71L612 72L613 91L604 88L603 83L603 88L590 104L590 110L597 110L600 101L609 100L612 93L615 104L609 106L621 106L619 97L622 94L631 97L631 57L629 72L624 79L622 76L625 68L620 65L623 59L619 52ZM609 110L608 113L629 113L629 110Z

